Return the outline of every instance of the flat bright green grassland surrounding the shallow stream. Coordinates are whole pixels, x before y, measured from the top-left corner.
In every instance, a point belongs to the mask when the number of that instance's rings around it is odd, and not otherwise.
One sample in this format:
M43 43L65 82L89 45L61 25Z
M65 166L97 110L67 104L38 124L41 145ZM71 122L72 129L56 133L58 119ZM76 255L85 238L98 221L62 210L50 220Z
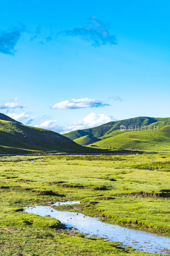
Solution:
M81 204L55 208L170 236L170 154L52 157L0 158L2 255L151 255L104 239L71 236L53 218L22 212L27 205L61 199ZM140 170L143 165L153 171ZM51 190L51 195L42 193Z

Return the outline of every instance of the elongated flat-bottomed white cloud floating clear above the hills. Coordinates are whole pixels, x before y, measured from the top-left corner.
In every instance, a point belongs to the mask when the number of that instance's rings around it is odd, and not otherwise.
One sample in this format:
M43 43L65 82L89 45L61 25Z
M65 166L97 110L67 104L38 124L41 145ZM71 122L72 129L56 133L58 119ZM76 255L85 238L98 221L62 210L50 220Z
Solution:
M61 102L55 103L51 106L51 109L75 109L75 108L98 108L110 106L104 102L95 99L82 98L82 99L72 99L72 100L63 100Z

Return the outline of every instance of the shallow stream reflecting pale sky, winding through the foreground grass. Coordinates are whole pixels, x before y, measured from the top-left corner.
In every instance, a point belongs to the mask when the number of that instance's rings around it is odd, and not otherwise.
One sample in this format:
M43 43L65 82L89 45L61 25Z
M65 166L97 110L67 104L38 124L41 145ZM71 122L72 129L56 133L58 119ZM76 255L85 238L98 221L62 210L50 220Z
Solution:
M51 206L79 203L79 201L57 202ZM170 237L167 236L159 236L145 231L107 224L101 222L98 218L88 217L82 213L77 215L76 212L56 211L49 206L35 205L35 207L25 208L24 212L40 216L50 215L52 218L60 220L68 228L77 228L79 232L87 236L102 236L109 241L118 241L122 242L123 245L132 246L139 251L170 254ZM72 232L75 231L73 230Z

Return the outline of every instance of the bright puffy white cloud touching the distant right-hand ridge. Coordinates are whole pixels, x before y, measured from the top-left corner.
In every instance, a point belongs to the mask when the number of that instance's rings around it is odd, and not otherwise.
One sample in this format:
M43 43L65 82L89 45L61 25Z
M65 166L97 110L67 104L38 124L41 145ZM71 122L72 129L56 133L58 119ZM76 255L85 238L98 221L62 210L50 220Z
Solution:
M67 130L63 133L92 128L101 124L106 124L111 121L116 121L116 119L112 115L91 113L88 116L85 116L83 119L71 123L70 126L67 127Z

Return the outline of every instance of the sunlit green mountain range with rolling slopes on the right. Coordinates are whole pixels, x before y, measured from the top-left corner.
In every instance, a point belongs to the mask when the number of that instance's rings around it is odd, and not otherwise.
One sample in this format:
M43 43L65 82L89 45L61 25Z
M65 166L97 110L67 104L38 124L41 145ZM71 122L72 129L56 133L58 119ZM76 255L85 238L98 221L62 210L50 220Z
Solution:
M125 131L120 131L120 125L126 127ZM147 131L150 125L152 131ZM139 127L139 131L134 131ZM141 126L146 127L146 131L141 130ZM159 126L158 131L153 131L153 127ZM129 129L132 127L133 129ZM170 117L167 118L154 118L154 117L135 117L120 121L109 122L97 127L77 130L63 134L64 136L76 141L80 145L89 145L95 143L100 148L115 147L123 149L149 149L154 150L160 147L170 148ZM90 140L94 142L90 142Z

